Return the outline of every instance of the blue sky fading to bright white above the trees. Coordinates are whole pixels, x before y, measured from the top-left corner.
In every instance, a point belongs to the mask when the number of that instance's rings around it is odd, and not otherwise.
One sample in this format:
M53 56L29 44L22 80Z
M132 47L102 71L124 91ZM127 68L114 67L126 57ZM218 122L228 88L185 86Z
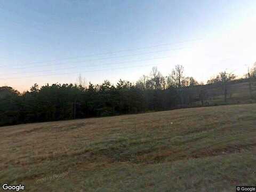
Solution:
M0 0L0 86L136 82L175 65L198 82L256 61L256 1Z

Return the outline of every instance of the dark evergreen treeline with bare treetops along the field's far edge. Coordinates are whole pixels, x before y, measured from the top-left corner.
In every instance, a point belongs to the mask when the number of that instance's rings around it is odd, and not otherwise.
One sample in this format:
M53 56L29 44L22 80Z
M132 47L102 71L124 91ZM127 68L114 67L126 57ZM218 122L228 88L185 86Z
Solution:
M254 70L247 75L247 79L256 78ZM222 72L207 83L223 87L226 101L227 84L233 79L233 74ZM185 77L178 65L167 77L154 67L135 84L120 79L116 85L105 81L85 86L79 77L77 84L34 84L22 94L4 86L0 87L0 126L169 110L196 101L204 105L206 95L201 85L193 77Z

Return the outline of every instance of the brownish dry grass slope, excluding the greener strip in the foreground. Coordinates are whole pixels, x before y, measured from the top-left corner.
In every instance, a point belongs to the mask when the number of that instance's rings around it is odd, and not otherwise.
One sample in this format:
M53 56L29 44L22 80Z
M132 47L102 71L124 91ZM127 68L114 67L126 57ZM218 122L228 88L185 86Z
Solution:
M255 151L255 124L256 105L234 105L1 127L0 181L36 188L33 180L69 169L77 183L115 166Z

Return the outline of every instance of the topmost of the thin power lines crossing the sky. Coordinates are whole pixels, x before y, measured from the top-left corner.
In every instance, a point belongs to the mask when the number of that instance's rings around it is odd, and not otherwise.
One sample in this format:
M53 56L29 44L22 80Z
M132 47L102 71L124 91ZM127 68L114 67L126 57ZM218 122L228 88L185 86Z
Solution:
M150 49L150 48L159 47L159 46L174 45L174 44L187 43L187 42L200 41L200 40L202 40L202 38L190 39L188 41L181 41L181 42L176 42L176 43L157 44L157 45L153 45L153 46L140 47L140 48L136 48L136 49L126 49L126 50L119 50L119 51L105 52L105 53L97 53L97 54L94 53L94 54L84 55L82 57L70 57L70 58L49 60L49 61L30 62L30 63L27 63L26 65L33 65L33 64L38 64L38 63L49 63L49 62L56 62L56 61L65 61L65 60L73 60L73 59L79 59L79 58L86 58L86 57L105 55L105 54L113 54L113 53L121 53L121 52L128 52L128 51L138 51L138 50ZM5 66L8 66L8 65L4 65L4 66L0 66L0 67L5 67Z

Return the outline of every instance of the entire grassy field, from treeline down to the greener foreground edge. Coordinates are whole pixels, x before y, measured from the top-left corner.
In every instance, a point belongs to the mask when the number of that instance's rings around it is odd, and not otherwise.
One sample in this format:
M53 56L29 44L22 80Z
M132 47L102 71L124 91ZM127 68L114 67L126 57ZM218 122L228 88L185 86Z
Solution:
M26 191L235 191L256 184L256 105L0 127Z

